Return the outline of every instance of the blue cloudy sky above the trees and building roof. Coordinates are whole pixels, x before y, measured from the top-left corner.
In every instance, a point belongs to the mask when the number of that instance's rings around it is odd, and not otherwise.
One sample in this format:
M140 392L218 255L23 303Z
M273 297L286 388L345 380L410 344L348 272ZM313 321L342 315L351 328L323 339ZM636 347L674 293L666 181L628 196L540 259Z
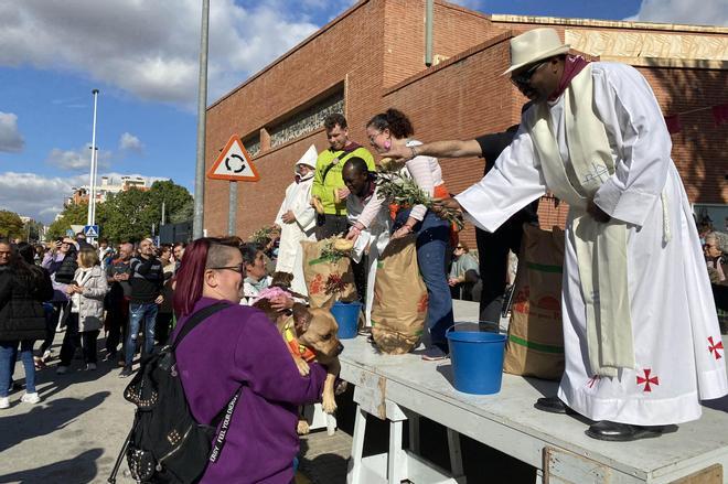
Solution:
M728 0L459 0L484 13L728 25ZM353 0L212 0L210 101ZM50 222L101 174L194 185L199 0L0 0L0 208Z

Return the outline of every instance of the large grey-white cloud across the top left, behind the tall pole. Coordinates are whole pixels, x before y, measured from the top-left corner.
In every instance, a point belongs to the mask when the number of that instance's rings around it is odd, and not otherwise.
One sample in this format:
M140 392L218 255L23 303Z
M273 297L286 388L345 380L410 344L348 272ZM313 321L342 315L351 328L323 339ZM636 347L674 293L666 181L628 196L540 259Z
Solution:
M277 2L255 8L234 0L211 3L210 99L318 29L287 20L290 7ZM200 24L197 0L1 2L0 65L77 72L142 99L193 106ZM28 32L33 32L32 42Z

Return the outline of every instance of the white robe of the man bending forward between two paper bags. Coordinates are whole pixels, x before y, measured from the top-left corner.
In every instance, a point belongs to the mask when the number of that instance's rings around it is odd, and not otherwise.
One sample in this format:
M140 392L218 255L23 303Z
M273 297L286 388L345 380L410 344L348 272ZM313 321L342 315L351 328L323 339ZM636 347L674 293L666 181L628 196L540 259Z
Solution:
M349 224L353 225L362 215L362 211L366 206L372 196L362 200L356 195L349 195L346 197L346 213L349 217ZM384 248L389 244L389 229L392 228L392 219L389 218L389 207L388 205L382 204L382 207L377 212L376 216L370 224L370 226L362 230L362 233L356 238L354 244L354 250L352 259L355 262L362 260L363 255L368 249L367 255L367 268L366 268L366 304L364 308L364 315L366 318L365 325L367 327L372 326L372 304L374 303L374 283L376 281L376 265L379 260L379 254L384 251Z

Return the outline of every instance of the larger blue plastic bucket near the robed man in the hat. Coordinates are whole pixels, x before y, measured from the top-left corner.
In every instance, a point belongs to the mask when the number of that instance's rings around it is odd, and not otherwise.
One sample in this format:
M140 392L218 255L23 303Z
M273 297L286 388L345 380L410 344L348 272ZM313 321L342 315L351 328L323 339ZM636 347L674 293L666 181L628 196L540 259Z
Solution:
M459 331L457 326L447 332L456 389L474 395L497 394L503 379L505 334Z

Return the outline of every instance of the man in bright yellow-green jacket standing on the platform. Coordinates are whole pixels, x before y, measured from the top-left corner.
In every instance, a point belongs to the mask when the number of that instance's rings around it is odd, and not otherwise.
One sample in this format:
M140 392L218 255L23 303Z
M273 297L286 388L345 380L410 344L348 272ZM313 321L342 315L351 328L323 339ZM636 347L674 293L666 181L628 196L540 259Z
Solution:
M340 112L326 116L329 149L319 153L313 175L311 195L318 197L323 214L317 217L315 238L321 240L335 234L346 233L346 196L349 189L341 178L341 169L351 157L362 158L370 171L375 171L374 158L366 148L349 139L346 118Z

